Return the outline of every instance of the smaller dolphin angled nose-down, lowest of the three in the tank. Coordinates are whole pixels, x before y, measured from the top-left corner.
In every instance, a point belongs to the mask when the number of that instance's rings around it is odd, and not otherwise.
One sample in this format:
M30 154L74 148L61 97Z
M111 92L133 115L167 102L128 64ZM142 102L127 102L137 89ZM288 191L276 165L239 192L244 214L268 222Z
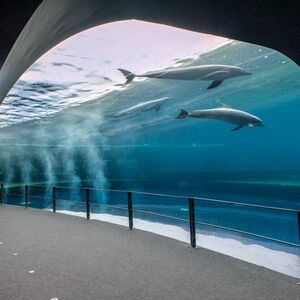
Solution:
M239 130L244 126L264 127L263 121L260 118L251 115L245 111L232 109L228 107L195 110L192 112L187 112L181 109L180 114L176 118L182 119L186 117L200 118L200 119L214 119L214 120L220 120L220 121L237 125L236 127L232 128L231 131Z

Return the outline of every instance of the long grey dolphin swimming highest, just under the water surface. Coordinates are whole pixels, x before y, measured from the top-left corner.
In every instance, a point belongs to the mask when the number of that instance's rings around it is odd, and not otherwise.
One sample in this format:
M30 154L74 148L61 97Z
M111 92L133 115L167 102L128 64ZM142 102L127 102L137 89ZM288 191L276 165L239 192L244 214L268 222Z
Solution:
M145 74L133 74L124 69L118 69L126 78L125 84L132 81L135 77L149 77L161 79L178 79L178 80L208 80L212 81L207 89L212 89L220 85L223 80L250 75L251 73L245 69L227 66L227 65L203 65L186 68L170 68L161 71L152 71Z

